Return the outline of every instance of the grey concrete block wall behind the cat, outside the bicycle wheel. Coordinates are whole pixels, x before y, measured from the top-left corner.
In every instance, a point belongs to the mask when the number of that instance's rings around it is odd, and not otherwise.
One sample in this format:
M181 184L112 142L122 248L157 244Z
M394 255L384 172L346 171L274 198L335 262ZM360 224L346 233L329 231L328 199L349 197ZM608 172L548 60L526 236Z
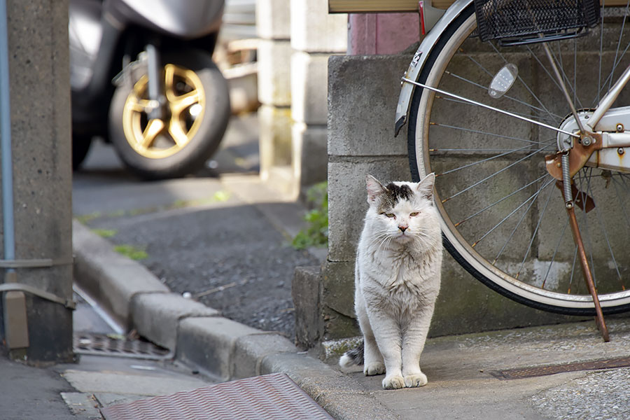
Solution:
M412 54L333 56L328 61L328 260L298 270L297 341L313 346L359 335L353 311L356 244L367 210L365 174L410 179L407 127L394 137L400 76ZM316 314L317 322L313 321ZM572 320L525 307L491 291L444 253L442 290L431 336Z

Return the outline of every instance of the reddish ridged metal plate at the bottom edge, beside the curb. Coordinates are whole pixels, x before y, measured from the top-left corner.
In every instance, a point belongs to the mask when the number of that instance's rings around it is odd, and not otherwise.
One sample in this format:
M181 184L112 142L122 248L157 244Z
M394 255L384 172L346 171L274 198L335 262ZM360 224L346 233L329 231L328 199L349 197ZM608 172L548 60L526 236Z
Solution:
M332 420L283 373L111 405L101 412L106 420Z

